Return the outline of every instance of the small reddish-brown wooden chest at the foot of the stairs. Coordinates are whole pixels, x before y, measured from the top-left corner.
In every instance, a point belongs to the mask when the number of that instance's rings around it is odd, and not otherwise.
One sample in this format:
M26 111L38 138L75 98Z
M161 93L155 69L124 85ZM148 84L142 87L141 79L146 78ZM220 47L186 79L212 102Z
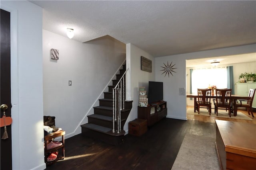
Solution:
M129 134L141 136L148 131L148 121L145 119L135 119L129 122Z

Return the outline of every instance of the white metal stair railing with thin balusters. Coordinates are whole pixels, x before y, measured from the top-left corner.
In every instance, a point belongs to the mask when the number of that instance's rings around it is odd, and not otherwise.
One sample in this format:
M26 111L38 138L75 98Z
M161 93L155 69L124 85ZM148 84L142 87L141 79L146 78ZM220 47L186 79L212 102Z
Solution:
M113 88L113 133L120 133L121 131L121 110L124 109L124 96L125 96L125 75L124 72L115 88ZM116 122L116 129L115 129Z

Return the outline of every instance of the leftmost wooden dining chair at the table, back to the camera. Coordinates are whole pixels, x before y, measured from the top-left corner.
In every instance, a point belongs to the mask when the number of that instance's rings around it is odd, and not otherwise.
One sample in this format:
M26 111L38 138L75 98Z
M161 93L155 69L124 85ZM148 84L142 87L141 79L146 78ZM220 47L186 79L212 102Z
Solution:
M204 106L209 109L209 114L211 115L212 103L210 102L210 98L208 97L208 96L211 96L211 89L198 88L197 94L198 94L198 101L196 102L196 104L197 104L198 114L200 113L200 107Z

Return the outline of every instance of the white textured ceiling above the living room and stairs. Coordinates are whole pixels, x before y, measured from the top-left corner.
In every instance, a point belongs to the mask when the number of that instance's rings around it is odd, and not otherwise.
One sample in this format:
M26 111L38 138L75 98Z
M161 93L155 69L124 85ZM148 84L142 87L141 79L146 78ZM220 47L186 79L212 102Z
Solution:
M154 57L256 43L256 1L30 1L43 29L86 42L110 35Z

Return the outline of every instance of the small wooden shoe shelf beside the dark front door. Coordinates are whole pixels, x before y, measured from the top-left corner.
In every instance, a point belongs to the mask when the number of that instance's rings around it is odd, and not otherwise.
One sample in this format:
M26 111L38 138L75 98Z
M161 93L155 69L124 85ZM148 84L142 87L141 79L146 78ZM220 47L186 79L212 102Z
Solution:
M46 136L44 136L44 162L46 163L46 166L49 166L51 164L54 164L55 162L57 162L58 160L62 160L65 158L65 142L64 142L64 135L65 135L65 131L58 131L58 132L54 132L54 133L50 133ZM56 138L56 137L62 137L62 145L60 147L56 147L54 149L47 149L47 141ZM53 160L51 162L47 162L47 154L50 152L54 152L55 150L62 150L62 154L58 153L58 157L56 158L56 160Z

